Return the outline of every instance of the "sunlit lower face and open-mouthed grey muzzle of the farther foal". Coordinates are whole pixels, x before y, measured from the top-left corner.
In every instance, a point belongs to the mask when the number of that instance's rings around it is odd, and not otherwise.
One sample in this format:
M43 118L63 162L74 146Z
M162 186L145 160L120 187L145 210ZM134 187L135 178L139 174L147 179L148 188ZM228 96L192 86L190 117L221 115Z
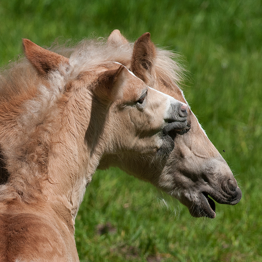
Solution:
M182 135L173 133L175 149L169 155L159 186L183 203L192 216L214 218L212 199L220 204L235 205L242 193L226 161L195 116L190 115L191 128Z

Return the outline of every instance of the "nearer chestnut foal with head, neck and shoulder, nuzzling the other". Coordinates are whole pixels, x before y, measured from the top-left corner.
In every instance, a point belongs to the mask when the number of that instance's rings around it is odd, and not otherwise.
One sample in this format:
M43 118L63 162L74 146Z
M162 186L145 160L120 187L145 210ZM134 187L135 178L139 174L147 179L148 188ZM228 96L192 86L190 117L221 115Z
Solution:
M0 76L0 260L79 261L74 220L100 159L166 158L188 106L107 57L23 47L28 62Z

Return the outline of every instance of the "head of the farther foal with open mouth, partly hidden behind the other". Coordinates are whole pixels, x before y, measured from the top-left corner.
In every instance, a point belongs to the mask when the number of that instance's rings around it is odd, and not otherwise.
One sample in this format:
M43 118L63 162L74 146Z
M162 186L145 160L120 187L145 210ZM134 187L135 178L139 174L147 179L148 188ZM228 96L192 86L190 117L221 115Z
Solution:
M126 41L116 30L108 38L108 44L119 47L126 45ZM145 33L135 42L132 58L127 65L152 88L186 103L174 81L176 72L169 74L172 61L168 56L161 58L163 53L151 42L150 34ZM119 166L177 198L186 205L192 216L214 218L215 202L208 196L218 203L235 205L242 193L229 166L190 108L187 108L187 113L186 128L168 132L174 140L174 150L167 158L158 157L157 154L115 154L105 156L100 167L110 164Z

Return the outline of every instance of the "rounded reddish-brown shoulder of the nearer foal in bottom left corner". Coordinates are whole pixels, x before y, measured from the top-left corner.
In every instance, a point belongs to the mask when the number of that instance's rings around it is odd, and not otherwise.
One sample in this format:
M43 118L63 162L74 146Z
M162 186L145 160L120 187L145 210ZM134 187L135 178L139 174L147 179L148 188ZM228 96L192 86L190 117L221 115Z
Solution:
M47 218L31 213L0 213L3 261L11 261L11 257L22 261L33 261L35 257L43 258L41 261L66 261L67 256L61 233Z

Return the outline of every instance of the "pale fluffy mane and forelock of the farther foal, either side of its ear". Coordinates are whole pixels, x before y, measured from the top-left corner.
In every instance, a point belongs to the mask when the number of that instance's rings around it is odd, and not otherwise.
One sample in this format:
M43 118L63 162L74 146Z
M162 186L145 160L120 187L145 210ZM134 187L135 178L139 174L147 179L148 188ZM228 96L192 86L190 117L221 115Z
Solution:
M51 51L70 58L76 75L88 68L95 67L107 61L118 62L130 69L134 43L108 43L106 39L84 39L76 45L67 41L63 45L53 43ZM181 56L177 53L156 48L154 71L163 80L172 80L179 86L185 77L185 69L181 65Z

